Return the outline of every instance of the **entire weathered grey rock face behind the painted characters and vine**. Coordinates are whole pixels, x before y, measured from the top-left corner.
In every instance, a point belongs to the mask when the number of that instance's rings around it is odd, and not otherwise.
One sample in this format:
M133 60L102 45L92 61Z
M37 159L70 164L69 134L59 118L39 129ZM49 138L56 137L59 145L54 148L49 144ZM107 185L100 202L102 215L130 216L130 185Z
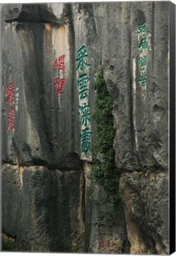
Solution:
M142 88L137 24L145 21ZM115 252L168 254L168 31L168 1L2 5L2 229L18 250L114 252L99 245L116 241ZM83 44L90 84L101 63L114 100L121 203L113 225L95 207L104 192L81 159L75 59ZM52 64L63 54L66 83L56 95ZM7 133L11 82L18 103ZM94 99L90 88L91 113ZM92 133L93 146L93 120Z

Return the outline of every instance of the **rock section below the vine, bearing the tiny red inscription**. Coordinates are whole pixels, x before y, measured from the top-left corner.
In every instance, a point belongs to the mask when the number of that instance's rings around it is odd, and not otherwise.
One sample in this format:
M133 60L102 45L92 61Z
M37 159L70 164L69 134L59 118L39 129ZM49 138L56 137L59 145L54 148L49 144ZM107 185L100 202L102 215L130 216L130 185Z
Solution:
M89 252L127 254L130 252L130 244L127 240L123 207L121 207L121 203L119 203L119 209L112 214L112 204L101 203L104 197L105 193L103 188L96 185L93 192L94 205ZM112 216L114 218L112 218Z

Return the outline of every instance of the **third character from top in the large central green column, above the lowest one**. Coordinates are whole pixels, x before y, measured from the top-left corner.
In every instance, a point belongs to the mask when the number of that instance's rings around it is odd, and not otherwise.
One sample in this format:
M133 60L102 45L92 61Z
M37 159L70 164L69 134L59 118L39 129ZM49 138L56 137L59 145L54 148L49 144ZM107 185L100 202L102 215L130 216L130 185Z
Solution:
M79 125L84 125L85 127L87 127L88 123L92 123L91 119L89 118L91 116L90 106L87 103L84 103L83 106L79 106L79 110L81 111L81 113L78 114L80 118Z

